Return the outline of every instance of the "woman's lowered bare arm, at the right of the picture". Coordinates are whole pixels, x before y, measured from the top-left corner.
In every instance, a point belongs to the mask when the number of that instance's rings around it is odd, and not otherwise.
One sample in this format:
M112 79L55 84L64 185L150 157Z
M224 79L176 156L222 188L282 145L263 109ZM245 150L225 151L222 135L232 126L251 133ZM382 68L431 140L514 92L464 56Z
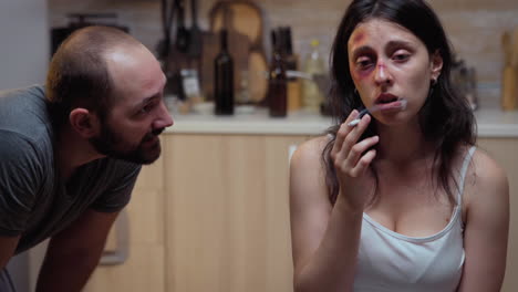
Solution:
M509 232L509 186L506 174L486 154L474 156L464 192L466 260L459 292L500 291Z

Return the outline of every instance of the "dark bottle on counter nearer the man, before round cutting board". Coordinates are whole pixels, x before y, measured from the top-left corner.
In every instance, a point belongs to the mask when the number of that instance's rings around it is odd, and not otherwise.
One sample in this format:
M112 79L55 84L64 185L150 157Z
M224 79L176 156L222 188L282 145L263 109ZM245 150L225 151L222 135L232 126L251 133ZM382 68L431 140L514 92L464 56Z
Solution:
M234 114L234 61L228 52L227 30L220 31L221 48L214 60L214 101L216 115Z

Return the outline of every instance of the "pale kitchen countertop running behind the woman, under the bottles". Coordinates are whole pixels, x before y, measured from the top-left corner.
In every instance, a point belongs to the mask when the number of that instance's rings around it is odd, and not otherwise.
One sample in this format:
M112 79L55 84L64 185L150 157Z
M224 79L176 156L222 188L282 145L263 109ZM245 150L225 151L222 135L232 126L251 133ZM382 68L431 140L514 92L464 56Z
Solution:
M518 137L518 112L499 108L475 111L478 137ZM304 111L271 118L266 108L232 116L173 113L175 124L166 133L182 134L250 134L250 135L319 135L332 125L330 117Z

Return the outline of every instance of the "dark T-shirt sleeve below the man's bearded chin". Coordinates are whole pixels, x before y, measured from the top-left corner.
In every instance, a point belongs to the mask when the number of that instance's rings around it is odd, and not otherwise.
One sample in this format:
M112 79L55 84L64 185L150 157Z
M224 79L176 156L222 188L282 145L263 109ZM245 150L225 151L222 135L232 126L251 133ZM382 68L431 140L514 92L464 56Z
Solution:
M139 173L141 165L117 160L112 182L91 207L100 212L122 210L130 202Z

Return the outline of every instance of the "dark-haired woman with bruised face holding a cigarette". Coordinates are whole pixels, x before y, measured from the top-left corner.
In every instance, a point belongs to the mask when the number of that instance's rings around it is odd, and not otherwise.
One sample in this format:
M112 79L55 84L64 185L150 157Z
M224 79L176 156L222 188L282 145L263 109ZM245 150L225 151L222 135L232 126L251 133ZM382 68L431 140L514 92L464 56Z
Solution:
M436 14L355 0L331 63L338 124L291 159L296 291L499 291L508 182L474 146Z

